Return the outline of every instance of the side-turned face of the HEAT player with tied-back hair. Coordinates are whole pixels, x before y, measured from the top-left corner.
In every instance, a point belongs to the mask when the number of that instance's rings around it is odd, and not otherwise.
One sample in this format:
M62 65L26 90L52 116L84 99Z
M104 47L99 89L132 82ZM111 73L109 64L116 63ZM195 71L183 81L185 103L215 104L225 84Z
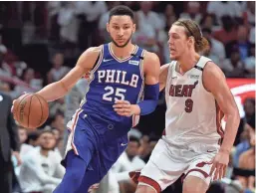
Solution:
M178 60L191 46L182 26L172 25L168 32L168 46L171 60Z

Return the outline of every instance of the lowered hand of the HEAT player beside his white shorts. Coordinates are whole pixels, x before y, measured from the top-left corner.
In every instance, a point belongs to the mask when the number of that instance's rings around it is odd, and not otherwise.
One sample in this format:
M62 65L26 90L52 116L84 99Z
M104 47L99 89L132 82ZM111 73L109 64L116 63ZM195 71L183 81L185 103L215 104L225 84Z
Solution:
M214 173L213 180L220 180L225 177L226 167L229 162L229 153L219 151L212 161L210 176Z

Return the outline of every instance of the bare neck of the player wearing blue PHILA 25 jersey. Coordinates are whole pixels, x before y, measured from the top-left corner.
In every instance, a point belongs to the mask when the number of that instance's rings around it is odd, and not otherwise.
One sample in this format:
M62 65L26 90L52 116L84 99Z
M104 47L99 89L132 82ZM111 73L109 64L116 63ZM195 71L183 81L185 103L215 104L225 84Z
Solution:
M119 48L115 44L111 44L112 51L116 57L119 59L125 59L130 56L130 54L134 51L135 45L128 43L128 45L124 48Z

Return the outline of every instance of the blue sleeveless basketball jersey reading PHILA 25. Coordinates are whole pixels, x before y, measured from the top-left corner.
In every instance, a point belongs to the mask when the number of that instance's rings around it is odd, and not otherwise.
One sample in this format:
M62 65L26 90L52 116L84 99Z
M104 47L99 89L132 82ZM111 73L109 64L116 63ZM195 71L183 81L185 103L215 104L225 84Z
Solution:
M143 94L144 50L135 46L126 59L119 59L111 49L111 43L102 45L98 63L90 75L90 82L81 108L111 122L122 122L131 127L132 117L121 116L113 105L116 100L137 103Z

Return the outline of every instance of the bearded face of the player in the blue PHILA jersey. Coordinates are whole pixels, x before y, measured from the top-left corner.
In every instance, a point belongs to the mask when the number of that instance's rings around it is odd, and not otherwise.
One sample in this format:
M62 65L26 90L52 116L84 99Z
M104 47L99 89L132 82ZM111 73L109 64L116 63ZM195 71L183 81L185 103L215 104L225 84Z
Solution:
M129 16L112 16L110 23L107 24L107 30L113 43L117 47L124 48L130 42L135 24Z

